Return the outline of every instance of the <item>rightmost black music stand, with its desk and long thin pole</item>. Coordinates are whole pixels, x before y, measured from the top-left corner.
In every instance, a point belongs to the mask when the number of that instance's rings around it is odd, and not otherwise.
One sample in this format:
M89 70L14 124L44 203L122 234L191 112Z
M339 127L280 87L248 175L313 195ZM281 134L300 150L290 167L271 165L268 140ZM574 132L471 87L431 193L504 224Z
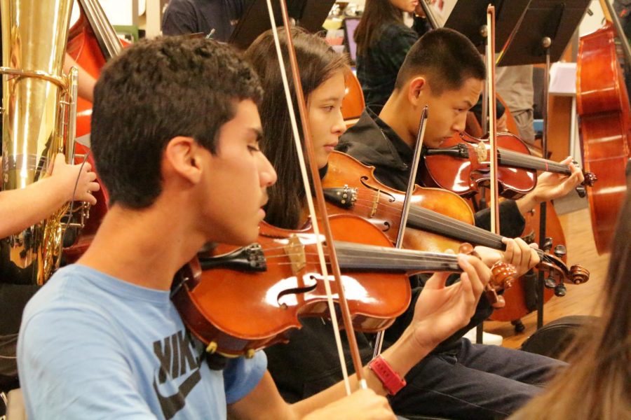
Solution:
M550 85L550 62L558 61L583 19L590 0L532 0L515 31L513 40L503 51L498 66L523 64L545 64L543 76L543 157L548 156L548 87ZM539 247L545 248L546 203L541 203L539 225ZM548 241L548 248L552 245ZM556 250L555 250L556 251ZM564 251L564 250L560 250ZM538 273L537 329L543 326L543 288L545 274ZM555 295L565 295L565 286L558 284Z

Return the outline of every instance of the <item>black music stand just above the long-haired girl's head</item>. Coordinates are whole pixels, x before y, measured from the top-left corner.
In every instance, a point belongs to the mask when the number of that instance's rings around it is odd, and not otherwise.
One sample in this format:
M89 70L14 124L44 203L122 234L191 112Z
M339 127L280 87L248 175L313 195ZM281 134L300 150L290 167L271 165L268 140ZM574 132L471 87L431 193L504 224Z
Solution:
M333 3L335 0L287 0L287 10L297 26L309 32L317 32L322 29ZM278 0L272 0L272 8L276 25L282 26L283 18ZM266 0L249 0L228 42L245 50L257 36L268 29L271 29L271 23Z

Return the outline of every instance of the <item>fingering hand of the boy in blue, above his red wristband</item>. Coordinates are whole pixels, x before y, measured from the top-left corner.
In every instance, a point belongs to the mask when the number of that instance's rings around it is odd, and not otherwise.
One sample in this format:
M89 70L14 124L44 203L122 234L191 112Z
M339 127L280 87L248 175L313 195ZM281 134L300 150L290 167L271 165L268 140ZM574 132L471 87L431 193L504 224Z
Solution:
M491 278L491 270L477 257L461 254L458 262L461 281L445 286L449 273L436 273L416 301L410 328L421 346L433 348L466 325Z

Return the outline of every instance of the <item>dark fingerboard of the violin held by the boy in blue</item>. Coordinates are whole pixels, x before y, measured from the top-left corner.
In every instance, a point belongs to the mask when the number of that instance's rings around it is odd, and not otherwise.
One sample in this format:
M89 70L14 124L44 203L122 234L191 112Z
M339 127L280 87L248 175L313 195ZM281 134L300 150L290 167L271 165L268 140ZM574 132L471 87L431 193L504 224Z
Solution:
M461 272L456 255L335 241L341 268L376 272Z

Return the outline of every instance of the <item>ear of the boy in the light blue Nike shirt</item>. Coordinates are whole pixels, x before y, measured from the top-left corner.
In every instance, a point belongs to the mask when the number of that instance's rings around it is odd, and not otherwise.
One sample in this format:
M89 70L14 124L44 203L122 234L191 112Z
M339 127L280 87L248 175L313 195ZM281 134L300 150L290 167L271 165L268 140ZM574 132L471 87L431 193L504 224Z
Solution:
M163 155L163 176L182 177L191 183L201 179L201 146L192 137L173 137Z

